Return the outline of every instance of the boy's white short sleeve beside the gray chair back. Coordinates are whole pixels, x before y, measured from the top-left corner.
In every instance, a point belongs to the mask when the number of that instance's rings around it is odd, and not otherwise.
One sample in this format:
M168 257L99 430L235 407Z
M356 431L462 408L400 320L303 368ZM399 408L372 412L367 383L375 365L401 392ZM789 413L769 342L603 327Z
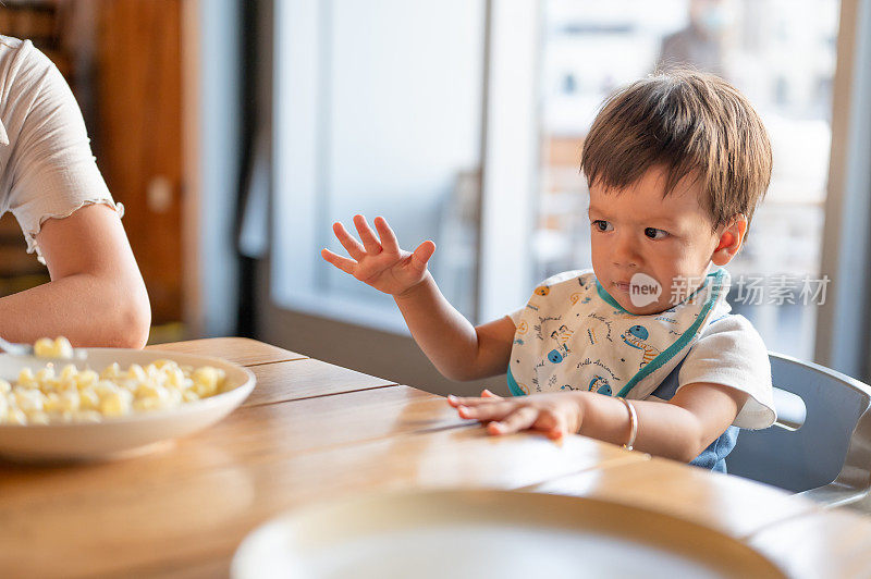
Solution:
M736 427L768 428L777 418L768 349L759 332L743 316L726 316L711 323L687 354L678 373L677 390L699 382L749 394L732 422Z

